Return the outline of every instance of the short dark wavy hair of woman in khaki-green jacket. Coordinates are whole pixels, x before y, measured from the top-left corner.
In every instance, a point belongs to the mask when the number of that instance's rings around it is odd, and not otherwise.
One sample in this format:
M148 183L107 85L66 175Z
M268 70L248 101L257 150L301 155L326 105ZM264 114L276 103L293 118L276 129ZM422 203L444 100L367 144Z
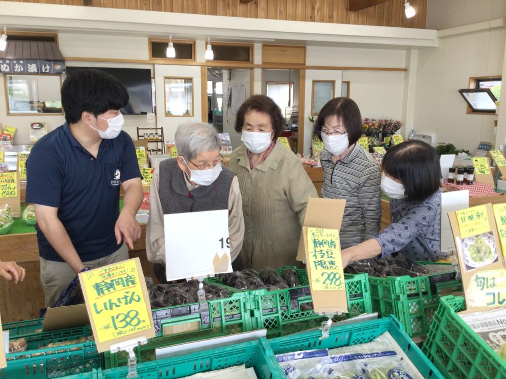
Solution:
M249 97L237 111L235 116L235 131L238 133L242 132L242 126L244 125L244 116L250 111L257 111L260 113L268 114L271 118L272 128L274 130L274 137L272 139L278 139L279 135L285 129L285 119L281 114L281 109L274 103L274 100L265 95L253 95Z

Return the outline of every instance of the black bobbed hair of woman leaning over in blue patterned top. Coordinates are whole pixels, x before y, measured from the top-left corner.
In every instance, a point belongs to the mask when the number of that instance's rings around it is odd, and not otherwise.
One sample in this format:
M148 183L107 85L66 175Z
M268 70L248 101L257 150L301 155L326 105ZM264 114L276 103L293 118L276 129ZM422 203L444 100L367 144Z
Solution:
M438 153L423 141L412 139L391 147L382 166L388 176L402 181L408 201L424 201L441 186Z

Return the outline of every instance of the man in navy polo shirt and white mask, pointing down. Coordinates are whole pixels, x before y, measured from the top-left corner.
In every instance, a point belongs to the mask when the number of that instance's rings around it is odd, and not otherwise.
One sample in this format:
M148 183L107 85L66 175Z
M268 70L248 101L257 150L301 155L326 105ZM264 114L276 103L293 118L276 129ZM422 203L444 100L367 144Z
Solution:
M67 122L37 141L26 162L46 306L83 268L128 259L123 242L133 248L141 235L141 174L119 111L128 92L111 75L82 70L65 80L61 98Z

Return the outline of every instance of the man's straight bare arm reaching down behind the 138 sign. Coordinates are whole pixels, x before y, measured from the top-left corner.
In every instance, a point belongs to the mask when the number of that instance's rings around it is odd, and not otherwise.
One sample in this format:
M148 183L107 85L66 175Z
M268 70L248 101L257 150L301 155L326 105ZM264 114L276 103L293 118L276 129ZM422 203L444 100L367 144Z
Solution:
M77 275L79 271L85 268L85 265L82 264L65 227L58 218L58 208L40 204L34 204L34 206L38 227L44 233L53 249L56 250L58 255L67 262Z

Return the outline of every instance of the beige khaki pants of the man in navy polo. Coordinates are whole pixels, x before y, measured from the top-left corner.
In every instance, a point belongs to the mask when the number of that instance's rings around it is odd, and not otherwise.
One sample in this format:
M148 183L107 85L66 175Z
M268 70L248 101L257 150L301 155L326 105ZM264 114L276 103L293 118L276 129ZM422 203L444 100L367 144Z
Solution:
M123 244L114 253L89 262L82 262L83 265L90 268L98 268L108 264L124 261L128 259L128 247ZM48 261L42 257L40 259L40 283L46 296L46 307L52 306L65 291L75 273L66 262Z

